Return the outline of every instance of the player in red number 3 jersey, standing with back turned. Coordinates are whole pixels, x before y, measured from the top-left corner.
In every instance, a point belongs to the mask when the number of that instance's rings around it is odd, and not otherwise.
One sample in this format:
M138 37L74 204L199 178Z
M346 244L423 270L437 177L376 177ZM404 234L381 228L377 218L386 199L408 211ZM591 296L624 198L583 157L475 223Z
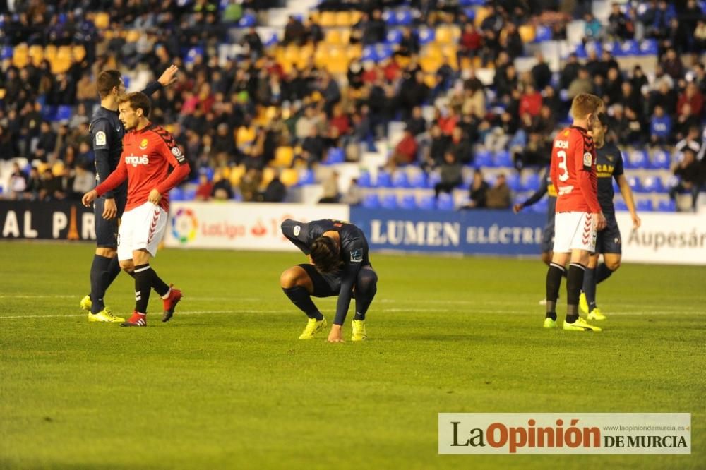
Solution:
M596 234L606 227L606 218L598 203L596 150L592 130L603 101L596 95L581 93L571 103L573 124L554 138L551 150L551 182L556 188L554 255L546 273L545 328L556 328L556 299L561 277L566 274L566 320L564 330L601 331L578 315L583 275L590 255L596 248Z

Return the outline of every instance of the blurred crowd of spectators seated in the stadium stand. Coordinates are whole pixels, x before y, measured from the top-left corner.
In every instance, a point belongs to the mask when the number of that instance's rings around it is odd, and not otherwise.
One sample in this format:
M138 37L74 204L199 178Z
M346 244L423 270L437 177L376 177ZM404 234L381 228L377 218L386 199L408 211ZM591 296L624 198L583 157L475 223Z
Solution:
M265 167L311 169L332 155L358 161L387 137L390 121L404 121L405 133L392 143L386 168L417 164L441 172L437 193L462 183L461 165L482 167L474 162L477 149L509 150L518 170L539 169L580 92L603 97L611 138L621 147L675 150L680 180L673 193L698 195L706 164L706 70L700 61L706 21L700 5L614 4L602 25L590 13L591 3L489 2L477 22L477 8L469 11L464 1L323 0L322 12L362 11L349 28L350 44L387 42L392 52L353 58L339 74L317 66L313 54L300 66L282 64L278 47L311 46L315 52L327 30L318 15L292 16L278 44L270 44L253 22L266 22L267 8L277 1L0 1L0 159L43 163L29 171L14 168L9 197L71 198L90 188L88 124L99 104L97 72L159 74L172 63L183 73L153 95L151 119L172 131L191 160L197 198L282 200L286 188L277 176L264 181L271 184L263 191ZM385 16L402 4L413 14L393 28ZM109 12L107 24L97 11ZM537 64L517 71L514 60L533 50L520 28L549 25L548 39L561 40L576 18L585 20L585 59L570 54L556 76L534 48ZM431 72L421 64L420 25L460 27L455 56L445 55ZM393 42L390 32L397 35ZM633 39L657 41L654 70L622 69L608 48L592 47L594 40ZM44 51L68 46L73 53L58 72L47 56L30 56L18 66L13 50L23 43ZM219 60L220 44L239 44L237 54ZM477 78L480 67L492 68L491 84ZM425 106L433 107L433 119L425 118ZM509 198L503 207L510 207Z

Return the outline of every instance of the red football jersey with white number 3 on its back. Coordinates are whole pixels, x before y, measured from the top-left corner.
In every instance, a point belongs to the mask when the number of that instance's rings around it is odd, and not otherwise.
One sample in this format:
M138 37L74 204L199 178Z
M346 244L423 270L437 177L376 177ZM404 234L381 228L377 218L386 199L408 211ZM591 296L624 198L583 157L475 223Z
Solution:
M570 126L556 135L550 175L557 193L556 212L601 212L595 145L584 128Z

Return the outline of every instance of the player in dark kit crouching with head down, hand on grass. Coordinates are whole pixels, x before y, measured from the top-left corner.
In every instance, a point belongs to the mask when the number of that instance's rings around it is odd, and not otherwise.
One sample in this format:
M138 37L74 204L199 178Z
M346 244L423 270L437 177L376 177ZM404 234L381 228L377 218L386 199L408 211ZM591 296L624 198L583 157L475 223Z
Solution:
M312 339L328 326L311 296L338 296L328 342L343 342L342 325L351 299L355 299L351 341L367 339L365 314L377 291L378 275L370 264L363 231L354 224L337 220L304 224L287 219L282 222L282 234L308 255L310 261L290 267L280 277L285 295L309 317L299 339Z

